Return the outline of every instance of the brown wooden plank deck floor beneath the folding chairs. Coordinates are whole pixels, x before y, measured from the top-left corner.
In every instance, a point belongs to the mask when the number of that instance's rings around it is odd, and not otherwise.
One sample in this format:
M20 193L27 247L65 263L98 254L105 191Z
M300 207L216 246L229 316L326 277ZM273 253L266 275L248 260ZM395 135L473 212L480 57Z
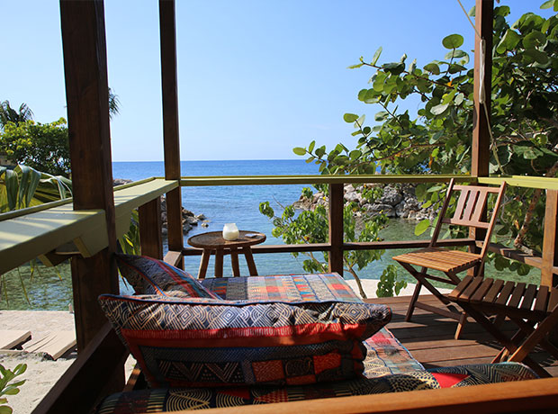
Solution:
M420 301L433 306L440 303L432 295L421 295ZM459 340L454 339L457 327L455 320L416 309L412 320L406 322L405 313L410 296L368 299L365 302L383 303L392 308L393 316L388 329L425 368L490 363L500 351L498 343L472 319L464 325ZM508 327L509 332L514 329L514 324L507 320L504 327ZM558 376L558 361L554 357L542 350L537 350L531 356L549 374Z

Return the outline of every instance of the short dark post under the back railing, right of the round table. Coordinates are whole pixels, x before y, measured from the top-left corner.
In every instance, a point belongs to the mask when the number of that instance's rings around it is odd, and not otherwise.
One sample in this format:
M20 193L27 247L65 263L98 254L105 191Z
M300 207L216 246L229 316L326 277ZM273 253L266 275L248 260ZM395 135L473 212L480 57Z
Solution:
M329 272L343 275L343 184L329 184Z

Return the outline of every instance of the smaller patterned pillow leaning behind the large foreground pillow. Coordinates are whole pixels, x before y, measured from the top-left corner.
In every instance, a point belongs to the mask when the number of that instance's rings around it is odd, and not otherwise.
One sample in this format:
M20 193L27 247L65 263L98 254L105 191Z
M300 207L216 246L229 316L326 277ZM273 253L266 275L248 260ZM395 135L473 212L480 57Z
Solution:
M175 266L147 256L116 254L121 275L131 284L137 294L160 294L181 291L193 298L220 299L209 292L192 275Z

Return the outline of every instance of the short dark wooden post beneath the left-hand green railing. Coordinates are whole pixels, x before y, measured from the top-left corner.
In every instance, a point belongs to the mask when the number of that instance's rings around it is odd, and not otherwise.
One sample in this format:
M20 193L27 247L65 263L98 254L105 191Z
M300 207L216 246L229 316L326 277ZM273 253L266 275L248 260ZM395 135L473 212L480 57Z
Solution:
M162 259L161 199L157 197L155 200L139 206L138 212L141 254Z

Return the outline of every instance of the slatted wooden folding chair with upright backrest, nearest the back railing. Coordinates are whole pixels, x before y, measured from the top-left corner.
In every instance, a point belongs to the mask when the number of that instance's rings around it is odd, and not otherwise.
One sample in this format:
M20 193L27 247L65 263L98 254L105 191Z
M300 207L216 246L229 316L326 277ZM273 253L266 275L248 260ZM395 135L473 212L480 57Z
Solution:
M484 257L488 251L492 229L496 223L502 195L506 189L506 183L502 183L500 188L497 187L482 187L477 185L455 185L454 179L449 183L446 193L446 201L442 206L439 213L437 225L434 229L432 240L427 248L422 248L411 253L393 257L403 266L415 279L417 279L417 286L411 297L409 309L407 311L406 320L409 321L412 317L415 308L420 308L426 311L437 313L438 315L446 316L459 321L455 331L455 338L459 338L461 329L463 328L466 320L466 315L463 311L458 311L455 306L447 300L446 296L440 293L437 288L429 282L437 281L446 284L457 285L461 279L457 276L458 273L467 269L473 269L473 276L482 275L482 266L484 265ZM460 192L455 206L455 213L451 218L446 218L446 211L452 199L454 192ZM488 196L490 193L496 193L497 199L492 210L491 219L487 221L486 210ZM485 231L485 238L482 243L481 252L465 252L461 250L450 250L448 248L437 247L437 239L440 234L442 224L452 224L468 227L469 229L481 229ZM419 266L417 270L413 266ZM438 270L443 272L444 276L430 275L427 273L428 269ZM444 304L444 307L435 307L428 303L419 302L419 293L422 286L426 287L430 293L437 297L437 299Z

